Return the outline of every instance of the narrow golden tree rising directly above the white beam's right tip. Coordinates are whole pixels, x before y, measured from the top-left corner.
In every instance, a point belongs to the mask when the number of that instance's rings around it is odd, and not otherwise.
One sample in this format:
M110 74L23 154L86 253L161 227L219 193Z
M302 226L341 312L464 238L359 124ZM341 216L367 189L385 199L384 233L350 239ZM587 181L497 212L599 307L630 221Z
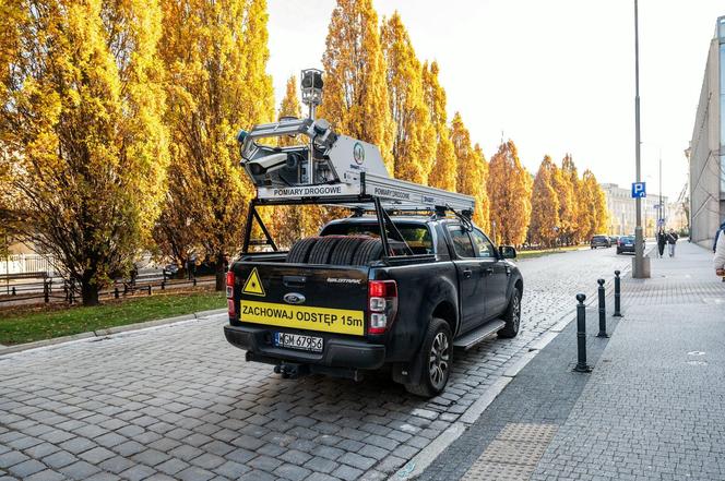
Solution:
M475 147L471 146L471 134L459 112L453 116L450 137L459 168L457 190L460 193L472 195L476 200L473 220L478 227L488 231L489 208L488 196L486 195L488 165L478 144Z

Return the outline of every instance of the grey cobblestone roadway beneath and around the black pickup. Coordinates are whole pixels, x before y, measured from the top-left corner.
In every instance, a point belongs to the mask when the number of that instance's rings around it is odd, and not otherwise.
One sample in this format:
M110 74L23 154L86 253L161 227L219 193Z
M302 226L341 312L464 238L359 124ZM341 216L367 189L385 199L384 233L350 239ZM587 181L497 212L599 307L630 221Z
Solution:
M383 375L281 380L222 316L0 358L0 479L384 479L456 422L573 308L630 264L613 249L522 261L522 332L460 354L430 400Z

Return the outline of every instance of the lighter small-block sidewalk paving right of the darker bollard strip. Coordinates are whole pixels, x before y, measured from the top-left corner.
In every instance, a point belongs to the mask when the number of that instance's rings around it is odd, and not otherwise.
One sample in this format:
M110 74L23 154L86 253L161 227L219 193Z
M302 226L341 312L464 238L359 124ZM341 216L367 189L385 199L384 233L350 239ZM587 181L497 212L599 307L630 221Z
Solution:
M533 480L725 479L725 284L680 242L623 282L625 318Z

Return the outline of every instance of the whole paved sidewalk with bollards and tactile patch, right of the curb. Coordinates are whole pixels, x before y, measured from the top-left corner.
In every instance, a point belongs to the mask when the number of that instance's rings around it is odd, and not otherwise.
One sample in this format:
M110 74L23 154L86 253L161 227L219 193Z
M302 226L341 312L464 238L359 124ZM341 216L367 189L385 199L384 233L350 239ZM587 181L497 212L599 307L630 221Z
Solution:
M725 480L725 282L677 249L623 279L610 339L587 311L591 374L571 372L571 323L420 479Z

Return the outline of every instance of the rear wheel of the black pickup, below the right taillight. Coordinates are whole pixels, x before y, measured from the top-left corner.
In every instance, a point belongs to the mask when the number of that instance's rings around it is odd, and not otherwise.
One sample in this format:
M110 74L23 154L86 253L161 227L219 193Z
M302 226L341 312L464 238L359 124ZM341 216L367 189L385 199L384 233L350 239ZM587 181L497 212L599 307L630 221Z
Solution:
M420 378L416 384L406 384L405 389L416 396L433 397L443 392L451 375L453 361L453 336L451 327L442 318L433 317L428 325L416 362Z

